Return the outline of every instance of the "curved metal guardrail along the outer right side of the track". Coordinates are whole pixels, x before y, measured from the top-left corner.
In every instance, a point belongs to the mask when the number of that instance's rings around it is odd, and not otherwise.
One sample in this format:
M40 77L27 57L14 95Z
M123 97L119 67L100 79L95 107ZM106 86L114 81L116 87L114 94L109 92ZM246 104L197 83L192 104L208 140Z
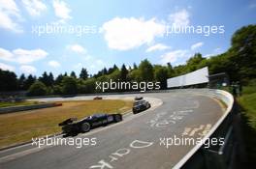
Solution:
M183 156L174 168L240 168L240 164L245 159L245 153L240 132L240 112L235 99L230 93L221 90L192 91L219 99L226 104L227 108L222 117L203 138L203 142L206 142L209 138L221 137L224 138L224 144L222 146L211 146L208 149L202 145L196 145L187 155Z

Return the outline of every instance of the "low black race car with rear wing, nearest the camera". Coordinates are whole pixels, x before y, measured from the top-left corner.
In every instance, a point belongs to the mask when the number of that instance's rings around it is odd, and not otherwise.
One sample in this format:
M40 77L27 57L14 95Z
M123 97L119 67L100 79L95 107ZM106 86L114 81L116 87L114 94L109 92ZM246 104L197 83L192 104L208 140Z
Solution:
M64 136L75 136L80 132L88 132L91 128L105 127L111 123L117 123L122 121L121 114L94 114L89 117L85 117L80 121L76 118L70 118L59 124L62 127Z

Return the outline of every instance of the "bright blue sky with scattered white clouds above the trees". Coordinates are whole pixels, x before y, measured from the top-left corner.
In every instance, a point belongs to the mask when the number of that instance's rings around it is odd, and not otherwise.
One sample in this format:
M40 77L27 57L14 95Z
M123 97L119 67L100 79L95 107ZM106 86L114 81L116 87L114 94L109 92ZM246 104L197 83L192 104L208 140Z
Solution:
M177 66L196 52L225 52L236 30L255 23L255 0L0 0L0 69Z

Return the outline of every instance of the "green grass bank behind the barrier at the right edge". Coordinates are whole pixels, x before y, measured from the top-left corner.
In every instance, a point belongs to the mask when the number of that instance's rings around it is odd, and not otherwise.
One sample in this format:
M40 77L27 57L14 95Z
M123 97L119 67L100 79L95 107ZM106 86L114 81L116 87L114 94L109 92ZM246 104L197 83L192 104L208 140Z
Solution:
M242 130L249 163L256 159L256 86L244 87L238 99L242 110Z

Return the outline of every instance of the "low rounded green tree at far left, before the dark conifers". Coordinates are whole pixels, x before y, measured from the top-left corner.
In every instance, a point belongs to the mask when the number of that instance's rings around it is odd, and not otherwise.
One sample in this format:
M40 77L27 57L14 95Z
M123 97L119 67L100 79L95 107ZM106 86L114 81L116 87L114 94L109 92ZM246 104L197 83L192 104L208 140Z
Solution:
M28 96L44 96L47 95L47 86L41 82L36 81L28 89Z

